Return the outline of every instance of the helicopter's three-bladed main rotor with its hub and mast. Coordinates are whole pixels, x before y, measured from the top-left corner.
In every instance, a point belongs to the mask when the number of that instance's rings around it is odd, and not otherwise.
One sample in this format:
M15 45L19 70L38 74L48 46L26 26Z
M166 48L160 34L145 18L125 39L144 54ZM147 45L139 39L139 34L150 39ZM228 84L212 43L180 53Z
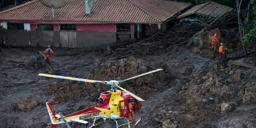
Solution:
M88 79L81 79L81 78L75 78L75 77L67 77L67 76L60 76L60 75L49 75L49 74L42 74L42 73L39 73L38 75L39 76L45 76L45 77L52 77L52 78L59 78L59 79L66 79L66 80L73 80L73 81L82 81L82 82L89 82L89 83L103 83L103 84L108 84L108 85L111 85L111 90L110 91L116 91L117 88L120 88L121 90L125 91L126 93L128 93L129 95L133 96L134 98L136 98L137 100L139 101L145 101L143 100L142 98L134 95L133 93L131 93L130 91L120 87L118 84L124 82L124 81L127 81L127 80L131 80L131 79L134 79L134 78L137 78L137 77L140 77L140 76L143 76L143 75L146 75L146 74L150 74L150 73L153 73L153 72L157 72L157 71L161 71L163 69L156 69L156 70L153 70L153 71L149 71L149 72L146 72L146 73L143 73L143 74L140 74L140 75L137 75L137 76L133 76L133 77L130 77L128 79L125 79L125 80L122 80L122 81L116 81L116 80L111 80L111 81L96 81L96 80L88 80Z

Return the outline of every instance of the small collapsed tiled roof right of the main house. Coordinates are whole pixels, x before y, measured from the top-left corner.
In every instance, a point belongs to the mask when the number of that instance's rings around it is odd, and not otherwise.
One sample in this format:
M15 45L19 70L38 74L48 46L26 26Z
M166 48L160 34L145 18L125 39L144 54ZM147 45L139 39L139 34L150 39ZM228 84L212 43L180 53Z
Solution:
M230 11L232 11L232 8L230 8L229 6L209 1L207 3L199 4L197 6L192 7L191 9L185 11L183 14L177 16L175 19L186 17L192 14L218 17L219 15L228 13Z

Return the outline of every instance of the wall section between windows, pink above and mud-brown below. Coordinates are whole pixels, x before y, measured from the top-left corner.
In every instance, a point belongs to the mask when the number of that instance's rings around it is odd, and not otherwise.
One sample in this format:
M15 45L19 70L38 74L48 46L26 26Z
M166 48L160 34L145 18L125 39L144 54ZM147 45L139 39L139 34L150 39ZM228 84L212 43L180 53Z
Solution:
M115 24L77 24L77 47L103 48L116 42Z

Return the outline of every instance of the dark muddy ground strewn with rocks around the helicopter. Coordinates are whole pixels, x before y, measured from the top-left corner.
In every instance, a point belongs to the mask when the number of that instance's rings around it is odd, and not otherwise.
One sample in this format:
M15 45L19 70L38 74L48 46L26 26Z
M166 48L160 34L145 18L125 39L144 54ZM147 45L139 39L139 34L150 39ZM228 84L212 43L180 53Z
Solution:
M104 61L99 60L108 55L102 51L55 49L59 55L52 56L52 72L45 61L40 62L38 58L38 51L43 52L44 48L3 48L0 61L1 127L49 128L47 123L51 121L45 102L51 102L55 113L61 111L66 115L94 105L99 94L110 88L39 77L39 73L123 80L163 68L164 71L121 85L126 89L133 87L135 94L146 100L142 103L142 110L135 115L136 118L143 117L138 128L255 128L256 69L227 65L219 58L191 49L173 46L160 55L145 54ZM237 48L228 57L240 55L241 51ZM14 63L6 58L25 62ZM236 61L255 63L253 55ZM92 120L89 125L91 123ZM71 125L85 127L78 123ZM104 123L99 128L114 126Z

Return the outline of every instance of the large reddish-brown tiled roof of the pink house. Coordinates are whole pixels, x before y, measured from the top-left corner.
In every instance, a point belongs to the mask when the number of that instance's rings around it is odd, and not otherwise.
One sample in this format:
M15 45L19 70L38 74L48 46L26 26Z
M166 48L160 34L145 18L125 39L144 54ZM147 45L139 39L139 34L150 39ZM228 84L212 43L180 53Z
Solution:
M84 0L65 0L66 6L52 9L39 0L29 1L0 13L3 21L27 22L125 22L161 23L190 3L167 0L96 0L92 14L85 16Z

